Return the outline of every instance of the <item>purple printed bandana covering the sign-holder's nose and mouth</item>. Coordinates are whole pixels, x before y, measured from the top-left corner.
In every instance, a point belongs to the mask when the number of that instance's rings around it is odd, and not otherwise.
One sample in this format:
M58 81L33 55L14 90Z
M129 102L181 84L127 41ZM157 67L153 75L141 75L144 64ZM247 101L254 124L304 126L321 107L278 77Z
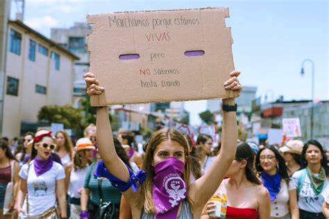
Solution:
M179 204L186 198L187 187L181 178L185 164L175 157L154 166L153 200L156 219L176 218Z

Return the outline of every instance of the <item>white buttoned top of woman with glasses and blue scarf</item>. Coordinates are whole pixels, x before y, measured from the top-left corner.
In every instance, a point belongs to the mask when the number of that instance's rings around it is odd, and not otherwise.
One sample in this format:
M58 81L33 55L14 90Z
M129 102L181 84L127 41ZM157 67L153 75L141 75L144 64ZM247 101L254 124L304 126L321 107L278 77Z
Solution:
M280 191L276 195L276 199L271 202L271 217L281 218L289 213L289 191L294 189L296 189L296 185L292 179L289 181L289 185L285 179L281 180Z

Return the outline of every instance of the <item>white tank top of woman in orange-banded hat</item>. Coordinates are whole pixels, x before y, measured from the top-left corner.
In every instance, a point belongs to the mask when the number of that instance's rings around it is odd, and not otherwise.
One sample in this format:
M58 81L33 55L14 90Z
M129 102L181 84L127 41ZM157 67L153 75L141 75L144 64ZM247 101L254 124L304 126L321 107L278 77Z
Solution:
M72 167L71 169L71 176L69 177L69 190L67 194L71 198L80 198L80 194L78 190L83 188L83 184L85 183L85 176L87 175L88 167L74 170Z

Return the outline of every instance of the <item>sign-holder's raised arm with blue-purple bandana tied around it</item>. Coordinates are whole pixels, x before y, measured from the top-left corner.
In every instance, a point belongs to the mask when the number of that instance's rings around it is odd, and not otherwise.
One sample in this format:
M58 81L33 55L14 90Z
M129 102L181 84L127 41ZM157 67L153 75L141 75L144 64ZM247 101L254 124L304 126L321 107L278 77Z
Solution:
M94 78L92 73L88 72L85 74L85 82L87 83L87 94L90 96L103 93L103 87L98 86L99 82ZM97 107L96 127L99 155L101 155L101 159L108 169L108 172L124 182L128 182L130 177L128 168L126 167L126 164L124 164L124 161L118 157L117 152L115 151L112 128L108 116L108 107ZM128 199L131 195L133 195L131 189L128 189L128 191L123 194Z

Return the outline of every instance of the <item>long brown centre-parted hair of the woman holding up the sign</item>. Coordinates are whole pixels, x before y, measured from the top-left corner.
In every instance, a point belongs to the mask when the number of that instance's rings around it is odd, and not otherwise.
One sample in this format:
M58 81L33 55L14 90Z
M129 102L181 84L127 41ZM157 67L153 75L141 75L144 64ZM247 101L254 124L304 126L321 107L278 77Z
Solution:
M155 205L153 202L153 177L154 177L154 169L151 163L153 162L154 151L160 143L163 141L176 141L181 146L184 147L184 155L185 155L185 166L183 171L183 180L187 184L187 188L189 186L189 146L187 143L187 139L174 129L161 129L155 132L149 143L146 146L145 157L142 165L142 170L147 173L145 182L140 185L140 189L137 192L137 208L142 209L144 207L144 211L146 213L155 213ZM188 191L188 189L187 189ZM189 202L189 206L193 209L193 202L189 199L187 195L187 202Z

